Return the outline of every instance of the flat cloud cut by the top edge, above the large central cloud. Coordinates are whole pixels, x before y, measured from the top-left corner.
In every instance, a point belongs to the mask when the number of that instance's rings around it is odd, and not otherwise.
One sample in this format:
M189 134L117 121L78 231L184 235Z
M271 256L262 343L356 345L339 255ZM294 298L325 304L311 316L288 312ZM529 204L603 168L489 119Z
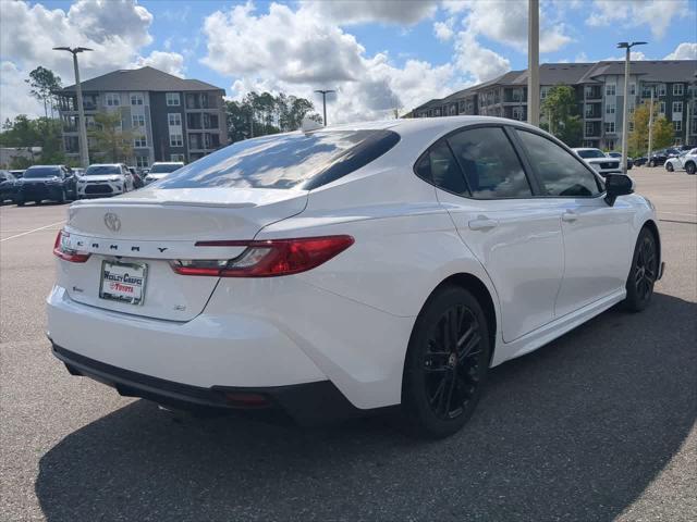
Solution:
M436 0L331 0L303 1L303 9L340 25L378 22L414 25L436 13Z

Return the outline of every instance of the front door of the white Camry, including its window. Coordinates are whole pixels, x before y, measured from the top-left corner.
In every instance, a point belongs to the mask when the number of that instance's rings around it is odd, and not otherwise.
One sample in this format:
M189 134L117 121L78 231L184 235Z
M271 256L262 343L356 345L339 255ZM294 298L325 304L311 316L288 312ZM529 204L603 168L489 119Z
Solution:
M543 195L562 211L564 278L554 307L563 316L622 289L634 251L634 209L623 198L609 206L599 177L561 145L517 129Z

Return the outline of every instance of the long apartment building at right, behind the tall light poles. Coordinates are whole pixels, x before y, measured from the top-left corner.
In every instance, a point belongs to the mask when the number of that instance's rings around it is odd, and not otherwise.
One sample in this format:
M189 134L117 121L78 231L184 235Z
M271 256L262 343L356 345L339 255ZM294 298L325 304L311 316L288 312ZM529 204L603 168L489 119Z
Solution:
M541 64L540 101L555 85L570 85L576 91L585 147L621 146L624 62ZM660 113L673 124L674 145L697 144L697 60L632 62L628 89L629 113L637 104L650 100L652 92ZM527 70L510 71L445 98L430 100L409 113L412 117L456 114L527 120ZM541 112L540 121L545 120Z

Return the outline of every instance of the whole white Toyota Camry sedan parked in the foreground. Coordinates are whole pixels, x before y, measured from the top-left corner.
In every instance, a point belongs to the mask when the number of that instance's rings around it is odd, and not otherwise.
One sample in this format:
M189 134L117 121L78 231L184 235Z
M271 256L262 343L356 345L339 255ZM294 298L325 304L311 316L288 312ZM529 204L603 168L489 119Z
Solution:
M73 203L48 336L125 396L308 423L398 407L445 436L489 368L644 309L657 225L628 177L511 120L260 137Z

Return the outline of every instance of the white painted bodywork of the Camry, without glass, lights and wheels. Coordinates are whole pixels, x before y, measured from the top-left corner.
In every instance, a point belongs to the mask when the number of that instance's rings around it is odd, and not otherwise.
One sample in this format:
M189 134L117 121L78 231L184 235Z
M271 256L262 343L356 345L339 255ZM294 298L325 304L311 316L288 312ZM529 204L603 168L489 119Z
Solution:
M390 129L400 141L311 190L156 185L72 204L66 245L90 257L58 260L50 339L102 363L206 388L328 380L352 405L371 409L401 401L416 316L451 276L476 279L491 298L491 365L624 299L638 233L658 223L648 200L623 196L613 207L603 195L476 200L415 175L431 144L473 125L531 128L480 116L328 127L318 133ZM203 172L204 160L186 169ZM107 213L120 216L118 232L107 227ZM351 235L354 244L295 275L183 276L167 262L244 251L195 246L200 240L332 235ZM114 252L149 263L143 306L99 298L101 261Z

